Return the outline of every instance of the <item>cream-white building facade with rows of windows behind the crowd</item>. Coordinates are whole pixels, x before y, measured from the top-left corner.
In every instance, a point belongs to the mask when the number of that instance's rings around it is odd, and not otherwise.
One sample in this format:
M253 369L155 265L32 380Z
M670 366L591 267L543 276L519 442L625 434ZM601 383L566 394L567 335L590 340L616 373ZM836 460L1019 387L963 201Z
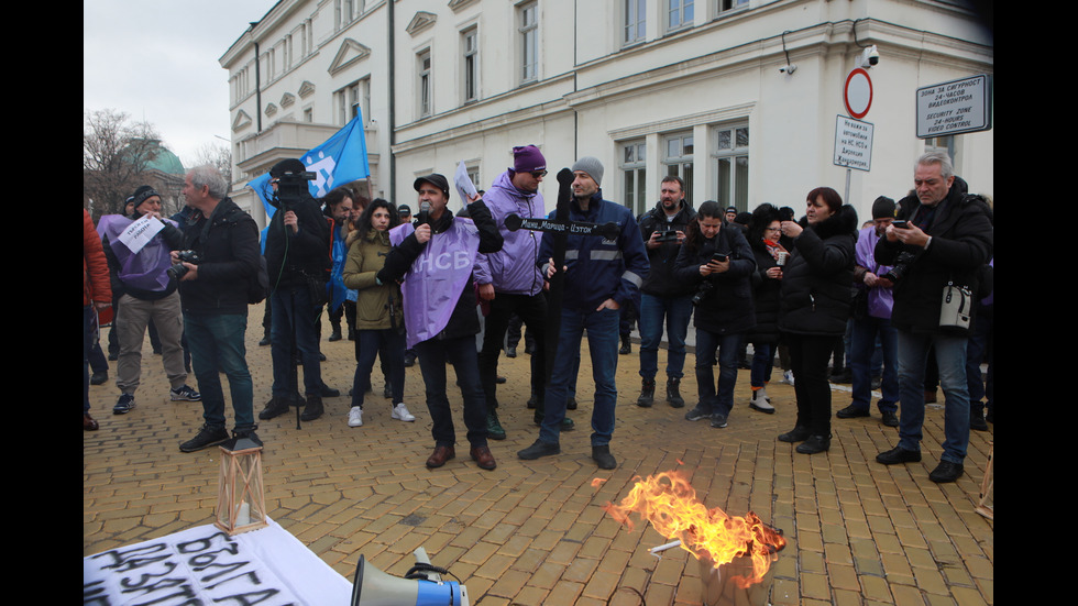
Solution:
M872 45L871 164L848 169L834 159L836 120ZM919 139L916 90L991 78L993 53L980 15L946 0L280 0L220 63L234 198L256 218L242 186L359 109L365 187L397 203L415 201L417 176L460 162L490 187L513 146L536 144L548 210L553 174L590 155L604 197L635 213L673 174L694 206L800 216L829 186L866 220L877 196L912 188L926 148L947 148L970 189L992 195L992 130Z

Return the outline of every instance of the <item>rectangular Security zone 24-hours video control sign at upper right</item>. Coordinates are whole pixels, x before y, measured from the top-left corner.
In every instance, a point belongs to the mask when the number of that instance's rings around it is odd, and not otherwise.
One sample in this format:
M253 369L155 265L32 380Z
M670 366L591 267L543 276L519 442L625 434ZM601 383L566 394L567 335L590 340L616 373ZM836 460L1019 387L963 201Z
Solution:
M991 77L974 76L917 89L917 136L987 131L992 128Z

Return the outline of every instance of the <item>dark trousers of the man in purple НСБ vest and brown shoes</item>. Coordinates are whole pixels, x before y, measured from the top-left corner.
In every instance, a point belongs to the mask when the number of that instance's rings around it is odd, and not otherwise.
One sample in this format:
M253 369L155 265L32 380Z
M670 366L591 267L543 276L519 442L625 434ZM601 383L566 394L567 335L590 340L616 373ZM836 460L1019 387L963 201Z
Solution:
M464 427L468 441L473 448L486 445L486 396L480 384L479 356L475 337L457 339L428 339L416 343L419 370L422 371L427 390L427 410L433 427L430 432L435 445L451 447L457 443L453 411L446 394L446 363L452 363L457 383L464 398Z

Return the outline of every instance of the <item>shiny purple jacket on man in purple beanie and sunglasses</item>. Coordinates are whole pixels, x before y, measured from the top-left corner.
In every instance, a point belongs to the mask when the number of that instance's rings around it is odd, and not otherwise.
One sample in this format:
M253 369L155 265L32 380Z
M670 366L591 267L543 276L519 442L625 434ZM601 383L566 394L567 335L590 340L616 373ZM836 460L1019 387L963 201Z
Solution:
M517 189L509 180L507 170L483 195L483 202L491 210L505 244L499 252L476 257L475 283L493 284L495 293L538 295L542 290L543 278L536 261L542 232L525 229L509 231L505 227L505 218L514 213L525 219L546 217L542 194Z

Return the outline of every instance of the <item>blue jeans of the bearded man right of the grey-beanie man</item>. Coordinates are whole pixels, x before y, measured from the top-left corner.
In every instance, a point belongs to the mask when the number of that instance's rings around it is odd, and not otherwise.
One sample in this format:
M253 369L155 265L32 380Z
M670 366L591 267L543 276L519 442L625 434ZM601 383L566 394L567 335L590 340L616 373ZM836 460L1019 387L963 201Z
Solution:
M659 372L659 343L667 322L667 377L681 378L685 367L685 334L693 313L692 297L644 295L640 304L640 376L653 381Z

